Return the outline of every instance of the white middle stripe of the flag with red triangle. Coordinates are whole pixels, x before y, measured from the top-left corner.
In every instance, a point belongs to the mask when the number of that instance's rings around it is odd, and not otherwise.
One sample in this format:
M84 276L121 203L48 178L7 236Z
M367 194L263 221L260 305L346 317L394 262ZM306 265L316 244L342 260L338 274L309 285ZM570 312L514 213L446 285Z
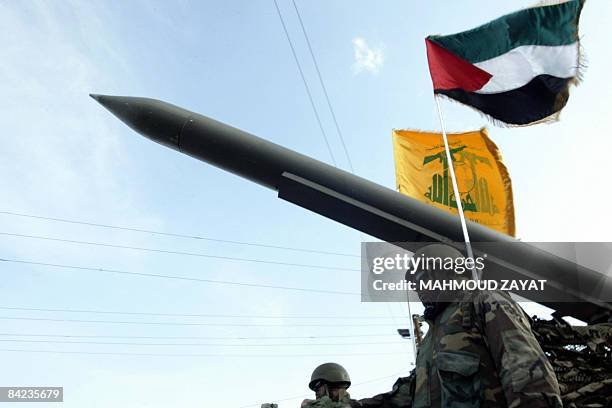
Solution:
M578 43L558 46L523 45L505 54L478 62L493 77L476 91L481 94L512 91L538 75L572 78L578 73Z

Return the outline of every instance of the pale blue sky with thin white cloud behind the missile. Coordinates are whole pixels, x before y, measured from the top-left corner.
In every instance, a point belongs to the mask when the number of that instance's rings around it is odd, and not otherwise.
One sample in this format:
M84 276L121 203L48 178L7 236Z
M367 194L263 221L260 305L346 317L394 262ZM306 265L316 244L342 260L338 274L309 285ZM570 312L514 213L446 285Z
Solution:
M391 129L439 128L426 66L426 35L470 28L529 4L298 1L356 173L393 188ZM346 169L293 6L285 0L279 0L279 5L332 151ZM605 188L612 148L606 120L607 102L612 98L608 73L612 61L609 43L601 34L610 20L612 4L588 2L581 22L588 70L584 83L573 90L561 122L521 129L489 126L513 179L517 233L525 241L612 240L607 215L612 196ZM331 162L273 0L1 2L0 33L5 39L0 48L0 187L4 192L0 211L359 254L362 237L356 231L137 136L87 96L93 92L162 99ZM486 124L459 105L444 102L443 109L449 130ZM6 234L358 269L358 258L349 256L230 245L7 214L0 214L0 221L3 259L359 290L358 272L354 271L282 267ZM0 385L64 386L66 407L241 407L288 397L295 398L281 402L281 407L297 406L310 393L310 372L325 361L340 362L350 370L355 397L384 392L394 378L411 369L410 343L395 334L396 328L407 325L403 304L362 304L359 296L351 295L32 264L2 262L0 273L0 320L5 333L0 335L0 349L29 350L0 351L5 367ZM418 310L416 305L414 310ZM540 308L533 310L543 313ZM221 324L226 326L217 326ZM303 326L308 324L327 326ZM300 336L316 338L287 339ZM228 339L235 337L280 339ZM222 345L62 344L50 340Z

